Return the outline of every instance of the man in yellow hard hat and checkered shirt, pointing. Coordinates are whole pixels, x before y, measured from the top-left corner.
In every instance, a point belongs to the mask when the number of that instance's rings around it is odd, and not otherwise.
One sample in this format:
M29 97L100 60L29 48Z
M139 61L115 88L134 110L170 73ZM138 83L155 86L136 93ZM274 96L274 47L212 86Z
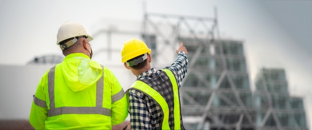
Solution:
M151 67L151 49L140 39L124 42L122 62L137 76L126 91L131 129L184 130L179 88L187 72L187 50L181 42L176 60L162 70Z

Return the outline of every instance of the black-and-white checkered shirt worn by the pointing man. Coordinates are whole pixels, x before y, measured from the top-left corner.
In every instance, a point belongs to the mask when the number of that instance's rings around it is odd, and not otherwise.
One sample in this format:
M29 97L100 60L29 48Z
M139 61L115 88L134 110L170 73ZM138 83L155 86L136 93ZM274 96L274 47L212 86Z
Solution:
M188 60L185 52L180 51L178 56L170 66L164 67L164 69L169 69L174 74L175 79L177 81L178 88L181 87L182 79L185 77L187 73L187 65ZM144 82L149 82L150 79L157 77L163 77L161 70L157 70L156 68L152 68L142 74L140 74L137 80L141 80ZM160 75L159 75L160 74ZM156 79L157 79L156 77ZM170 80L168 80L170 81ZM161 86L153 86L152 82L148 83L154 89L161 89ZM165 83L163 83L165 84ZM168 84L168 83L167 83ZM171 85L171 83L169 83ZM171 85L172 86L172 85ZM157 91L157 90L156 90ZM172 92L172 88L168 89L168 91ZM169 96L164 96L164 93L160 93L167 103L173 102L173 98ZM160 126L162 123L162 112L160 106L157 102L146 95L145 93L138 91L136 89L129 90L129 107L130 107L130 115L131 115L131 129L132 130L160 130ZM169 111L173 112L173 105L168 104ZM181 113L180 113L181 117ZM174 121L172 115L169 115L169 126L171 129L174 128ZM180 118L181 128L184 129L182 125L182 117Z

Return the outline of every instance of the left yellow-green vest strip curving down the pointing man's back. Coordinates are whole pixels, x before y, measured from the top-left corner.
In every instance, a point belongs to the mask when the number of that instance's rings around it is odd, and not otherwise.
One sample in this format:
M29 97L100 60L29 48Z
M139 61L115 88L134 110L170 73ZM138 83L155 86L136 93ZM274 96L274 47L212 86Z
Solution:
M135 86L132 86L132 88L135 88L139 91L142 91L146 94L148 94L148 96L150 96L152 99L154 99L160 106L162 112L163 112L163 120L162 120L162 125L161 125L161 129L162 130L170 130L169 127L169 108L168 108L168 104L166 103L166 101L164 100L164 98L153 88L151 88L149 85L147 85L146 83L137 80L135 82Z

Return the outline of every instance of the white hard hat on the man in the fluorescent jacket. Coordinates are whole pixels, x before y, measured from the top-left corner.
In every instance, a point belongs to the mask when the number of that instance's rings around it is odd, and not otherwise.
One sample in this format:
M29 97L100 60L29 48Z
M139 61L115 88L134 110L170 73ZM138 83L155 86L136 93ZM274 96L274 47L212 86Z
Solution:
M87 36L87 40L93 40L93 37L87 34L85 28L74 21L65 21L57 31L56 44L60 45L60 42L76 36Z

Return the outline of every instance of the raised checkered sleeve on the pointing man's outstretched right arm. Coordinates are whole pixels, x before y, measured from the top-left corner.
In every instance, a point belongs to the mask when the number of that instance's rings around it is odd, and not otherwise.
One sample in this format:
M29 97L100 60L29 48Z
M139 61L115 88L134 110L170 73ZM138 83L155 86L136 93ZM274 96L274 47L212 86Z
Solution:
M188 60L186 53L180 51L176 57L176 60L171 64L171 66L164 67L165 69L169 69L175 75L177 80L177 84L179 88L182 85L182 79L185 77L187 73Z

